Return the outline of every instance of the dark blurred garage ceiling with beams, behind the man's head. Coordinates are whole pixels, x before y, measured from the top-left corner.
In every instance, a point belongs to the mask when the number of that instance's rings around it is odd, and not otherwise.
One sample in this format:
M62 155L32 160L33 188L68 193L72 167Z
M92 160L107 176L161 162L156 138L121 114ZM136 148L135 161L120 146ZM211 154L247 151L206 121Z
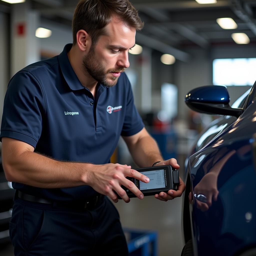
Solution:
M29 0L27 0L29 1ZM103 0L104 1L104 0ZM256 0L217 0L216 4L198 4L195 0L131 0L145 26L136 35L136 42L173 54L186 61L187 46L209 48L214 44L235 44L234 32L248 35L256 44ZM71 27L76 0L31 0L33 9L42 19L53 20ZM8 7L0 1L1 6ZM217 18L230 17L238 28L222 29Z

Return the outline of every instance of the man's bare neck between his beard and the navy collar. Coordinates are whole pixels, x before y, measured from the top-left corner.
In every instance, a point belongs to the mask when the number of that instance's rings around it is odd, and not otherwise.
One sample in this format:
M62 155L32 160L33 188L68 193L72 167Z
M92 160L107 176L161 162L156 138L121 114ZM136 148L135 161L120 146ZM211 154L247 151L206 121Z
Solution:
M85 74L83 70L83 56L81 53L77 51L77 49L72 46L70 51L68 52L68 59L73 68L74 72L76 73L79 81L81 82L82 86L88 88L92 93L93 97L95 98L96 95L96 87L97 81L95 81L89 74Z

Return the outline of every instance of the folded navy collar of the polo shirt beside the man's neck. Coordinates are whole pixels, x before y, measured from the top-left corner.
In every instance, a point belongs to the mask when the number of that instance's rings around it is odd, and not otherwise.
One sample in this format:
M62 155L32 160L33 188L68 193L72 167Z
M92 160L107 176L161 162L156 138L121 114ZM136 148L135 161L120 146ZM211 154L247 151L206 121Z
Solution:
M68 59L68 52L70 51L72 44L65 45L63 51L59 55L59 65L63 77L65 78L68 86L71 90L81 90L85 87L79 81L75 71L73 70L69 59Z

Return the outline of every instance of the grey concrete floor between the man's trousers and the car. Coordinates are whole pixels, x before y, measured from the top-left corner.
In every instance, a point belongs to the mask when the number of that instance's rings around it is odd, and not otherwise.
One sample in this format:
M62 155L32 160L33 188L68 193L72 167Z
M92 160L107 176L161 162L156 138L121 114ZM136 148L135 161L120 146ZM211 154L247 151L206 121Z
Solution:
M154 196L143 200L131 198L126 204L115 204L123 228L145 229L158 234L158 256L180 256L184 241L182 237L182 198L159 201Z

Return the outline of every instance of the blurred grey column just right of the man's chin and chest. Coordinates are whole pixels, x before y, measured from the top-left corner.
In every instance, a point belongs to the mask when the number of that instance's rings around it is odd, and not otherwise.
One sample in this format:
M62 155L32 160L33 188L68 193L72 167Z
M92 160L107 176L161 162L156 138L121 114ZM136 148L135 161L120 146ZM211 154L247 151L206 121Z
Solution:
M152 50L143 47L141 67L141 110L150 112L152 110Z

